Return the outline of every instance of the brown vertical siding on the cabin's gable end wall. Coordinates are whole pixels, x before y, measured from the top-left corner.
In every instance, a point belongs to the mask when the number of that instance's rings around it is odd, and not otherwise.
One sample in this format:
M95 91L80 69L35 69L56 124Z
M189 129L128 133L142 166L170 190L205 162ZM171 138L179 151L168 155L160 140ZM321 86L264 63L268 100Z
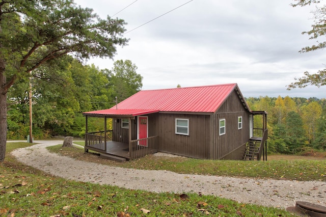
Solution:
M213 143L211 159L242 159L249 140L249 111L244 108L239 96L233 91L218 112L212 117ZM242 117L242 128L238 129L238 117ZM220 120L225 119L226 133L220 135Z

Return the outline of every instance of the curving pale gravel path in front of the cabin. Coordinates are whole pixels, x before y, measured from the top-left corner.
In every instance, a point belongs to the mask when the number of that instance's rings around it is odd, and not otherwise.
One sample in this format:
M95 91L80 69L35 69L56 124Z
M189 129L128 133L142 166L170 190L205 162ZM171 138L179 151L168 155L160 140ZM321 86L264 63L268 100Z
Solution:
M65 179L151 192L201 193L242 203L281 208L294 206L295 201L326 206L326 182L322 181L235 178L124 169L75 160L49 153L45 148L62 144L63 141L35 142L39 144L16 149L12 154L26 165Z

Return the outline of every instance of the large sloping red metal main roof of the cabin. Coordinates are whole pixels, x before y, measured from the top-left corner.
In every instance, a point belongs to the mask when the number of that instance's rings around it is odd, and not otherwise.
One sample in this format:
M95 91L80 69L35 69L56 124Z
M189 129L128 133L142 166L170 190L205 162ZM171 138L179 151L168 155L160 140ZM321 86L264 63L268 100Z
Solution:
M143 90L120 102L118 110L214 113L235 88L237 84Z

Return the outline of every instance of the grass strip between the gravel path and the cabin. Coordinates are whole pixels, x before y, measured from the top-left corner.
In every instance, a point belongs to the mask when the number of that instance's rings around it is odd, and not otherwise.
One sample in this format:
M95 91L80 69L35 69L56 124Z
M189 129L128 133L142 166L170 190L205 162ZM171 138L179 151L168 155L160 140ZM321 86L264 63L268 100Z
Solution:
M146 157L124 163L101 159L98 155L84 153L84 149L62 149L52 146L50 151L68 155L79 160L99 164L144 170L168 170L181 174L200 174L254 178L272 178L287 180L326 181L326 160L202 160L186 157Z

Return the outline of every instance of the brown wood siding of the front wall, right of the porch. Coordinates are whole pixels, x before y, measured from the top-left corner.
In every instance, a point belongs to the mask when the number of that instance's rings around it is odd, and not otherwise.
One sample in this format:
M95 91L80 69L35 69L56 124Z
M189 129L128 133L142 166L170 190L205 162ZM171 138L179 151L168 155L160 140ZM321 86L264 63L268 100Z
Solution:
M159 114L158 150L194 158L209 158L210 116ZM189 119L189 135L175 133L175 119Z

